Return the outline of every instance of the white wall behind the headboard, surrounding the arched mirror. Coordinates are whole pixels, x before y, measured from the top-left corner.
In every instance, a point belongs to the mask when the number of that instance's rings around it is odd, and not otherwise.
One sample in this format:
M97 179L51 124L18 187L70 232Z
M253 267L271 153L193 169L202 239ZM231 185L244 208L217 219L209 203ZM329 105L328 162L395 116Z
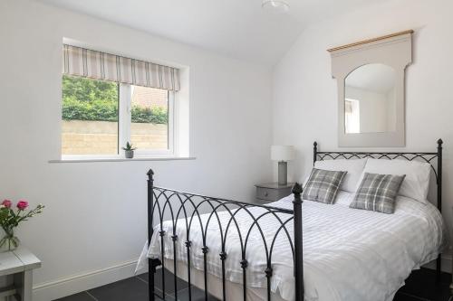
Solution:
M292 175L302 180L312 167L313 141L338 149L336 82L327 49L387 33L414 29L413 64L407 70L406 151L435 151L445 142L443 214L449 229L453 205L453 2L395 0L312 24L275 66L273 136L294 145Z

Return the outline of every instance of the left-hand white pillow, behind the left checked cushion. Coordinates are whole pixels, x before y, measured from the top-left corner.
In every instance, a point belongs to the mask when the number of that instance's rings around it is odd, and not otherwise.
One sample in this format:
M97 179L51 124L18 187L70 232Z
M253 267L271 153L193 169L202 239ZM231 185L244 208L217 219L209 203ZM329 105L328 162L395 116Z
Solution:
M367 159L324 160L316 161L314 163L314 168L336 172L348 172L342 180L340 189L346 192L355 193L366 162Z

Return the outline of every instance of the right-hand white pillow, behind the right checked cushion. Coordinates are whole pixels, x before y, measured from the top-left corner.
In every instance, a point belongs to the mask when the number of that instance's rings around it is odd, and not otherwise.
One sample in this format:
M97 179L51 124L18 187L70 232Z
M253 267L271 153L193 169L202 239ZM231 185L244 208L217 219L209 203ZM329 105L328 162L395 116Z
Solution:
M407 196L422 203L428 202L429 174L431 173L429 163L399 159L368 159L363 169L364 173L406 174L398 195Z

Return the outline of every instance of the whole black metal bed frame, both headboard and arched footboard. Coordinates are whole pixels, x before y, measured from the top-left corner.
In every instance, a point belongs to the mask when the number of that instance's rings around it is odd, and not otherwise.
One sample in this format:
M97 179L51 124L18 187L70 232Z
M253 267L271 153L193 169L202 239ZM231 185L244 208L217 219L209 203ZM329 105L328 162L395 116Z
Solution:
M320 160L325 159L353 159L353 158L385 158L385 159L406 159L409 161L412 160L421 160L429 163L431 165L434 174L436 176L436 181L438 184L437 198L438 198L438 209L441 211L442 205L442 140L438 140L437 152L435 153L394 153L394 152L320 152L318 151L317 143L313 144L313 164ZM435 166L432 161L437 158L437 166ZM272 252L274 249L274 243L276 238L279 235L284 235L288 240L290 249L292 251L293 260L294 260L294 281L295 281L295 301L304 301L304 264L303 264L303 221L302 221L302 186L299 183L295 183L292 193L294 194L293 201L293 210L276 208L273 206L252 204L247 202L237 202L232 200L226 200L221 198L213 198L205 195L199 195L194 193L184 193L178 192L175 190L160 188L154 186L154 173L151 169L148 172L148 243L150 245L151 238L154 234L154 221L155 218L159 222L159 237L160 237L160 258L164 259L165 254L165 244L164 237L170 235L171 240L173 241L173 282L174 282L174 299L178 300L178 271L177 271L177 243L184 243L187 252L187 264L188 264L188 298L192 300L192 291L191 291L191 252L193 250L192 241L190 240L190 229L192 227L192 221L196 219L199 221L203 246L198 252L203 253L203 274L204 274L204 291L205 291L205 300L208 299L208 289L207 289L207 253L209 252L209 247L206 245L207 242L207 227L209 222L213 220L219 225L219 238L221 243L221 252L218 254L218 259L221 261L222 266L222 299L226 300L226 238L230 226L236 228L238 237L241 244L241 256L242 259L236 264L240 265L242 268L243 274L243 298L246 301L246 268L248 267L248 260L246 259L246 248L249 235L252 230L258 230L260 233L263 248L265 250L266 256L266 268L263 270L264 276L267 279L267 300L271 300L271 277L273 276L273 265L272 265ZM205 228L203 228L203 223L200 219L200 215L203 214L202 206L207 206L210 210L209 218ZM259 216L254 216L250 212L250 208L259 207L264 209L264 213L261 213ZM238 227L238 221L236 221L237 212L246 212L250 217L251 226L247 230L247 233L241 233ZM167 212L167 213L166 213ZM228 212L230 218L225 229L222 229L221 222L218 217L218 212ZM208 212L209 213L209 212ZM166 219L166 214L169 216L169 220L172 222L172 232L167 233L163 230L163 222ZM280 215L287 216L284 219ZM156 217L155 217L156 215ZM271 215L275 217L277 225L275 227L275 234L272 240L265 240L263 230L259 224L259 221L267 216ZM185 235L184 237L178 237L176 232L178 219L182 221L185 220ZM286 225L289 221L294 221L294 241L291 239L289 231ZM240 222L240 221L239 221ZM155 274L157 268L161 267L161 282L162 287L159 294L155 289ZM440 275L440 255L437 259L437 271L438 276ZM149 300L154 301L156 296L160 299L168 299L168 293L166 292L166 283L165 283L165 260L149 259Z

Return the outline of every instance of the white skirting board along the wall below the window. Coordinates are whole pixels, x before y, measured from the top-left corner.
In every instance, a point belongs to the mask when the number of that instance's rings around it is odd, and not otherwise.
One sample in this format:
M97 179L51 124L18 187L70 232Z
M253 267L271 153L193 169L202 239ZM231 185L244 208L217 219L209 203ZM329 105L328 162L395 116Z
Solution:
M137 259L34 286L34 301L50 301L134 276ZM146 270L143 270L146 272Z

